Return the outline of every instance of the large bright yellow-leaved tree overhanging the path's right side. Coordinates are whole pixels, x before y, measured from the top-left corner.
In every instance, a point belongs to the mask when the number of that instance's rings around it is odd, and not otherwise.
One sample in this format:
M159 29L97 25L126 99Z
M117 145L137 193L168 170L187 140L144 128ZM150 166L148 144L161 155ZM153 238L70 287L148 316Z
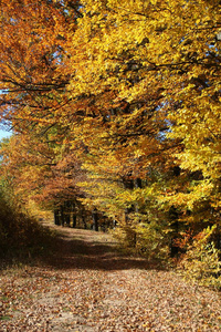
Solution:
M155 173L161 168L164 180L156 191L160 205L168 201L168 211L170 206L179 206L179 218L186 218L185 224L194 216L203 228L199 208L187 218L192 203L200 203L208 216L212 212L211 224L217 222L219 1L83 4L71 60L73 69L78 65L70 89L74 97L86 95L93 100L81 127L90 152L84 167L94 178L90 190L95 193L95 183L98 188L97 199L93 195L93 200L106 210L112 206L109 215L117 210L117 204L122 211L131 208L138 196L133 199L128 194L123 185L125 177L126 181L145 181L151 165ZM197 186L191 175L186 176L186 186L177 178L168 179L176 164L189 172L202 172L202 179ZM154 179L155 187L157 183Z

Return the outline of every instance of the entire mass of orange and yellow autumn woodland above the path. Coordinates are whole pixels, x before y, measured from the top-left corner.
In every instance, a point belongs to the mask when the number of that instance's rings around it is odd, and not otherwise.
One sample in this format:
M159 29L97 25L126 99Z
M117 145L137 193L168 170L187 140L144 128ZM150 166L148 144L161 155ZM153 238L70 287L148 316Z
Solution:
M1 1L0 24L1 251L51 212L220 288L220 1Z

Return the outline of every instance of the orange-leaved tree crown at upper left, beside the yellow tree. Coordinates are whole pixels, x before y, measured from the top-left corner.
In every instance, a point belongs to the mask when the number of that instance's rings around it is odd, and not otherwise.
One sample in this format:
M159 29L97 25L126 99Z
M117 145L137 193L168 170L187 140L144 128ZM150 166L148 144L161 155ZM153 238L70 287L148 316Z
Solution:
M1 114L19 132L53 126L67 103L67 50L77 1L1 3Z

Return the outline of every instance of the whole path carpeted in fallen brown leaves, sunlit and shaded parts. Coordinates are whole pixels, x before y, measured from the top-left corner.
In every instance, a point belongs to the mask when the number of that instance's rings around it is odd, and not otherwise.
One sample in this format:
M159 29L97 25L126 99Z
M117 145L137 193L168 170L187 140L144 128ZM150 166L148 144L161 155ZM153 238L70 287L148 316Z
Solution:
M116 250L107 234L59 228L57 250L0 272L0 331L221 331L219 292Z

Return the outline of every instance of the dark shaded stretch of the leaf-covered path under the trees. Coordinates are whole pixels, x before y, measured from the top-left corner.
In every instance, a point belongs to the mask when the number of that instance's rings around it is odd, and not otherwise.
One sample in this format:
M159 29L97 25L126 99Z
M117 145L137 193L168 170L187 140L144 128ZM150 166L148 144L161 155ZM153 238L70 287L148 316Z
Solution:
M159 269L156 262L120 253L108 235L71 228L59 228L55 248L45 260L56 269Z

